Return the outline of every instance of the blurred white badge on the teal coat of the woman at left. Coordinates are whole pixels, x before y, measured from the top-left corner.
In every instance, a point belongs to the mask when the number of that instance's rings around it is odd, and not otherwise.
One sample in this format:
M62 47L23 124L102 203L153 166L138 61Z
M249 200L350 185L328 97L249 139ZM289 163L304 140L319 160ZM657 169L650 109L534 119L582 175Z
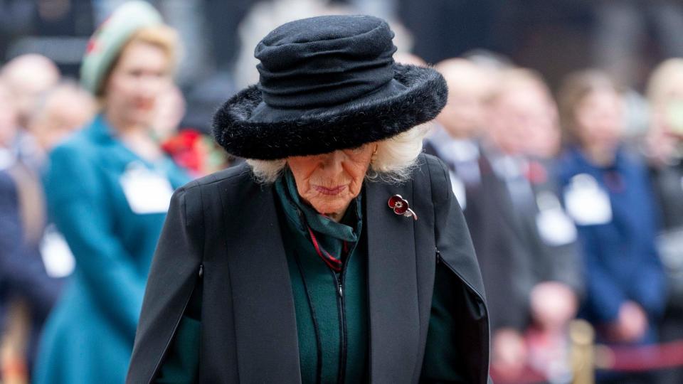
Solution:
M168 179L144 164L131 163L121 176L121 186L134 213L166 213L173 187Z

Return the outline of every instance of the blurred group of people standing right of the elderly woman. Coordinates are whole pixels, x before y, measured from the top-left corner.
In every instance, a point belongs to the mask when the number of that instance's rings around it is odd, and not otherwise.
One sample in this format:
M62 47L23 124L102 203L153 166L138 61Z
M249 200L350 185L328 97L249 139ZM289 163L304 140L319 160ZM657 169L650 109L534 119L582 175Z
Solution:
M637 136L626 134L623 88L603 71L570 73L554 95L536 71L477 55L436 68L449 101L425 151L450 166L470 227L494 377L514 383L532 370L571 380L576 317L607 345L681 338L683 60L652 73L650 119ZM598 378L680 383L680 374Z

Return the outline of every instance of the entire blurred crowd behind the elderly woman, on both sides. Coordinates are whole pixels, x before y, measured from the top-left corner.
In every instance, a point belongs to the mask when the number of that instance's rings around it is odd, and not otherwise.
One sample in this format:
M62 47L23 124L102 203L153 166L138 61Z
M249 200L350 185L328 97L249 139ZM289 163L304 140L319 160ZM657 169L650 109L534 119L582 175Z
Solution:
M240 26L243 49L292 18L349 11L314 2L295 15L293 2L257 6ZM656 8L662 28L683 28L683 16ZM90 35L105 17L88 12ZM171 192L241 161L208 136L211 108L190 111L174 83L183 38L134 3L80 52L80 82L36 53L0 60L2 383L122 382ZM250 53L232 55L235 83L258 80ZM395 59L427 65L406 50ZM642 95L623 81L632 68L578 70L551 88L485 50L434 65L449 98L424 151L448 165L470 228L494 378L571 382L577 318L609 346L683 340L683 58L657 65ZM202 127L187 126L191 113ZM604 371L598 381L683 383L683 368Z

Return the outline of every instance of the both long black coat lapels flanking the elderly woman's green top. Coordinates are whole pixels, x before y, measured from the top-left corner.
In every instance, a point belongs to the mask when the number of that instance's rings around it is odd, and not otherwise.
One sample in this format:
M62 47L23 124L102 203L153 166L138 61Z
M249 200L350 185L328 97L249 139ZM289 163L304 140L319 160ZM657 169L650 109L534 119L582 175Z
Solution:
M250 191L244 191L248 195L240 193L250 198L238 209L250 215L249 225L240 226L238 235L228 233L240 380L300 383L295 305L275 191L272 186L251 184ZM396 193L411 201L411 185L398 188L366 183L364 188L373 382L383 381L381 375L386 374L387 367L394 368L391 375L396 378L410 378L417 363L420 334L415 326L419 323L415 224L386 205ZM225 201L223 210L224 217L234 217L235 207L226 206Z

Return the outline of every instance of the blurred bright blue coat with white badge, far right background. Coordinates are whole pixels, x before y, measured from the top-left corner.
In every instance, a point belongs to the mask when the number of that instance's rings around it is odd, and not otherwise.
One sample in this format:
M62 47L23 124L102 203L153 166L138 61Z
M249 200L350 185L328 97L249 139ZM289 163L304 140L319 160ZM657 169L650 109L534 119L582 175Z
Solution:
M621 304L631 300L650 317L643 341L655 341L653 324L665 307L665 275L655 247L655 206L642 161L620 149L613 166L598 167L573 148L563 154L559 167L565 191L574 176L590 176L607 193L612 211L605 223L577 223L586 273L583 315L594 324L612 322Z

